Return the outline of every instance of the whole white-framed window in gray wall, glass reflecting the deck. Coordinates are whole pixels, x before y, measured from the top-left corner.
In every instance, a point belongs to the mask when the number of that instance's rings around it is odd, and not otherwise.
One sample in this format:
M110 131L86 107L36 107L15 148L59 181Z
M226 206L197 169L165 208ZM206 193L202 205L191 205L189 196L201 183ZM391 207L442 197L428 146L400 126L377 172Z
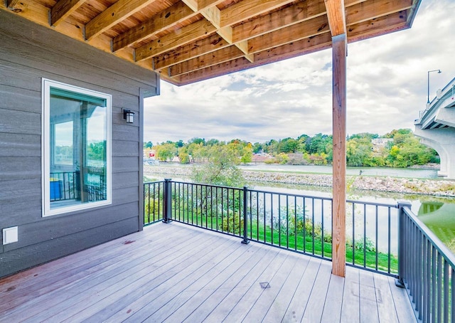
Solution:
M111 96L43 79L43 216L111 203Z

